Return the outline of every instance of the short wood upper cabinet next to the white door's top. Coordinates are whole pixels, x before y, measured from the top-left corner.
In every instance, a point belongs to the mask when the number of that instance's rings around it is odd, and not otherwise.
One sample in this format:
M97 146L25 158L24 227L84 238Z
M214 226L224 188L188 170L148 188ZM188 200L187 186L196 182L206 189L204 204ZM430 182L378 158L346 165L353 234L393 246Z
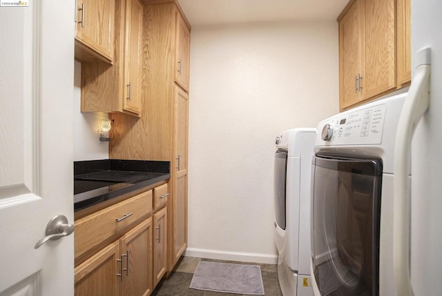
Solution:
M115 0L79 0L75 21L75 58L113 63Z

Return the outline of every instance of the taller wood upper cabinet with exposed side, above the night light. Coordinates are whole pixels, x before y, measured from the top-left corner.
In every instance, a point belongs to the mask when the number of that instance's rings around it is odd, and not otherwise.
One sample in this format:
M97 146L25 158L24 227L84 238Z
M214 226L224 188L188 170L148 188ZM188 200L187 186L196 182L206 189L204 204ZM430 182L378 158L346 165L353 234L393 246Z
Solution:
M114 66L81 66L81 112L142 112L143 5L139 0L115 4Z

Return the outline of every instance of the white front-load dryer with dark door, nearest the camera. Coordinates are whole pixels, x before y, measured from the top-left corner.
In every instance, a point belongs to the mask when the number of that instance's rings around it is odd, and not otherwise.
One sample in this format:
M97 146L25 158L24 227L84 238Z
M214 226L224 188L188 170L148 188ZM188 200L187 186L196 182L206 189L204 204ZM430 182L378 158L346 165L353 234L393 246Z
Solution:
M395 295L394 146L406 97L374 101L318 124L311 163L316 296Z

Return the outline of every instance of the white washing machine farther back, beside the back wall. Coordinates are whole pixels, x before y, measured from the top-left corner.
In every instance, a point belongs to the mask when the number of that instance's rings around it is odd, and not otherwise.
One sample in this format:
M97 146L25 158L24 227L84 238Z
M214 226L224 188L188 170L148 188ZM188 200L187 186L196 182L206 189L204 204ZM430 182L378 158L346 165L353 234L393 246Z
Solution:
M313 295L310 282L310 173L315 128L276 137L274 237L282 295Z

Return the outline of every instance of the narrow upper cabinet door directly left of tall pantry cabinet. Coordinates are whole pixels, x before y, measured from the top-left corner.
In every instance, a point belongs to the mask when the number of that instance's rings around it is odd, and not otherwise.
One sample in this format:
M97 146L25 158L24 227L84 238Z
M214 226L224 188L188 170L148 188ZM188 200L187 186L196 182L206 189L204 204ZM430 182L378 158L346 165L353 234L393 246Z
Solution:
M140 114L142 95L143 6L138 0L126 0L124 46L124 110Z

